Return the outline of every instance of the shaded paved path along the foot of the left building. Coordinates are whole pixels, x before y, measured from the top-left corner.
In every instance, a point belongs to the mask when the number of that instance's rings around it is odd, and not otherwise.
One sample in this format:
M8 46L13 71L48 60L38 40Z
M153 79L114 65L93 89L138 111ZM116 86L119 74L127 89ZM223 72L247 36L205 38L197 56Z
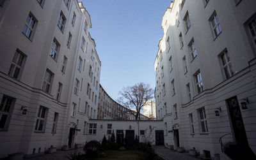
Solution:
M28 160L68 160L67 156L70 156L70 154L74 154L75 150L58 150L54 154L43 154L41 156L35 156L31 158L25 158ZM84 154L83 148L77 149L77 153L81 152L81 154Z

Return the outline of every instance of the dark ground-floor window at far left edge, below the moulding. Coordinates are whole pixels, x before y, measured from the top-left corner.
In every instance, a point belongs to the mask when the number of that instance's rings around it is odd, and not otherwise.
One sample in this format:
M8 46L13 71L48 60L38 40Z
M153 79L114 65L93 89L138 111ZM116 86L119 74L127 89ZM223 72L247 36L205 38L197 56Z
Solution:
M0 131L8 129L14 103L14 98L3 96L0 104Z

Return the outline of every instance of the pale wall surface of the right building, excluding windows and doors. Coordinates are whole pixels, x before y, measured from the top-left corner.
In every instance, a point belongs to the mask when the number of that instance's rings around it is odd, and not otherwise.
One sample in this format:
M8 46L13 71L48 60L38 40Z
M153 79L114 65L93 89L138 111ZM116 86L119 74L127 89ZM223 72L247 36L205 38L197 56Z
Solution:
M253 152L255 150L253 125L255 116L253 107L255 101L255 44L250 40L248 22L255 19L255 1L241 1L236 5L235 1L182 1L176 0L170 4L163 16L162 27L164 29L163 38L159 41L159 51L157 52L154 63L156 71L156 101L160 92L163 95L163 84L166 87L166 96L159 98L156 103L157 117L164 122L172 124L171 130L179 129L180 147L186 150L195 147L204 154L204 150L209 150L211 156L221 153L219 139L221 136L224 142L234 142L234 131L229 117L228 108L225 100L237 96L241 114L243 117L244 128L248 143ZM245 6L248 6L247 8ZM227 8L230 8L227 10ZM214 38L212 34L211 22L209 19L212 13L216 12L221 26L221 33ZM189 15L191 26L188 31L185 28L184 18L186 13ZM176 16L177 15L177 16ZM176 19L178 18L178 19ZM179 20L179 25L178 25ZM180 47L179 34L182 34L183 47ZM168 37L170 50L168 50ZM197 55L192 59L189 52L189 42L195 42ZM219 55L227 49L230 62L234 71L234 76L225 78L225 73L221 68ZM162 54L160 52L162 51ZM163 59L161 60L161 56ZM173 69L170 69L169 59L172 56ZM182 59L186 56L186 66L188 72L184 71ZM164 76L161 78L161 67L164 68ZM156 69L157 68L157 69ZM157 71L159 68L159 71ZM204 91L196 91L194 74L200 69ZM160 78L159 78L160 75ZM172 94L172 80L176 94ZM191 99L188 98L186 85L189 83ZM248 109L241 108L241 101L248 98ZM164 103L167 104L167 114L161 115ZM177 104L177 119L173 105ZM208 133L201 133L198 109L204 107L207 117ZM220 117L216 117L216 108L221 108ZM160 111L160 112L158 112ZM159 115L160 113L160 115ZM189 114L193 114L193 125L195 134L191 134ZM250 118L249 118L250 117ZM173 133L168 135L171 145Z

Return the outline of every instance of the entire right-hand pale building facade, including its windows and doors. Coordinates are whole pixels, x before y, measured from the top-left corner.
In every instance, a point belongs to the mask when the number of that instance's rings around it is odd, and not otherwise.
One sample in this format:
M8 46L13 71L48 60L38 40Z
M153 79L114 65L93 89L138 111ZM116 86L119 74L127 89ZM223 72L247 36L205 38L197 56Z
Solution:
M156 112L174 149L221 159L228 159L223 146L256 153L255 6L175 0L164 12L154 62Z

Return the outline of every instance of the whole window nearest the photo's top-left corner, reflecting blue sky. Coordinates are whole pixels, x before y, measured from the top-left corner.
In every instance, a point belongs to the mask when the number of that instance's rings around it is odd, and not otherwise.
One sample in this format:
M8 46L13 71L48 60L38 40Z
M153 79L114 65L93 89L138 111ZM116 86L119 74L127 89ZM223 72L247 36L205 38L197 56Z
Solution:
M36 18L30 12L22 31L22 33L24 33L25 36L29 38L29 40L32 40L32 36L36 28L36 22L37 22Z

